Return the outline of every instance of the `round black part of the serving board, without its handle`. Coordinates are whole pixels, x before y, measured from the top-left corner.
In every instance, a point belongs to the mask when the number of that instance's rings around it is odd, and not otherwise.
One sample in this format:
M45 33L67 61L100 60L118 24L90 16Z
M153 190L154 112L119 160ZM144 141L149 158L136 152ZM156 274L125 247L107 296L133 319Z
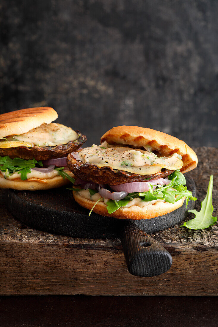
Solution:
M195 195L195 183L186 175L187 187ZM123 219L103 217L92 214L81 207L66 187L46 191L6 190L6 205L9 211L28 226L51 232L80 238L117 238ZM189 201L170 214L146 220L134 220L136 225L146 232L155 232L181 222L187 210L193 208Z

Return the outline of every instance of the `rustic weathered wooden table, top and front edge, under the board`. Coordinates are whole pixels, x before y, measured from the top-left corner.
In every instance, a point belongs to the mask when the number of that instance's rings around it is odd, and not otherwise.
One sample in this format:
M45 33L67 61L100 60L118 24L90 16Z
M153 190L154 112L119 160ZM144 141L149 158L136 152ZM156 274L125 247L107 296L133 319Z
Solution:
M199 164L191 176L196 209L213 174L217 215L218 149L195 150ZM218 295L218 225L203 231L174 226L154 233L172 254L173 265L163 275L140 278L128 273L119 239L74 239L33 230L9 214L4 196L0 217L1 295Z

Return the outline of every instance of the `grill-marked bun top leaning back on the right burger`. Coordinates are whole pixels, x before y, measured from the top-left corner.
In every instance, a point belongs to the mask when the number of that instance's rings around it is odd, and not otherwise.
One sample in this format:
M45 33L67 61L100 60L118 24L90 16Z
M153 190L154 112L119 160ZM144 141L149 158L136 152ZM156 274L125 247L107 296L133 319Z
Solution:
M196 153L185 142L174 136L150 128L138 126L118 126L108 130L102 137L101 143L125 144L134 147L147 147L151 151L158 151L162 156L171 156L178 153L182 156L182 173L190 171L197 166Z

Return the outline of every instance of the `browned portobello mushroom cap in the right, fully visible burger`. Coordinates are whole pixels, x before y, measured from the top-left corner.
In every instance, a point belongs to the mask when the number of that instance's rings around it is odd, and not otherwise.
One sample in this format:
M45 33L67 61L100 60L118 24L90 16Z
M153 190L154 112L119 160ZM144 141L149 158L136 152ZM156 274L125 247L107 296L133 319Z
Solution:
M78 152L79 151L75 151ZM161 171L152 175L138 175L121 170L113 170L111 167L98 167L92 163L84 163L70 153L67 156L69 170L84 181L92 181L97 184L119 185L131 182L144 182L146 179L156 180L172 174L175 170L162 168Z

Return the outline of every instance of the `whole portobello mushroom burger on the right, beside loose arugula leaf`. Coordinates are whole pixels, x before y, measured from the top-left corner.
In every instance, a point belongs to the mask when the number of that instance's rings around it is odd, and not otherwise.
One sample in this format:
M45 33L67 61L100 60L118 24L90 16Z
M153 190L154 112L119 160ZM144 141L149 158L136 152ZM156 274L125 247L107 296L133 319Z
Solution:
M183 173L197 166L195 152L168 134L118 126L101 144L72 152L67 165L77 177L74 199L84 208L119 219L165 215L195 200Z

